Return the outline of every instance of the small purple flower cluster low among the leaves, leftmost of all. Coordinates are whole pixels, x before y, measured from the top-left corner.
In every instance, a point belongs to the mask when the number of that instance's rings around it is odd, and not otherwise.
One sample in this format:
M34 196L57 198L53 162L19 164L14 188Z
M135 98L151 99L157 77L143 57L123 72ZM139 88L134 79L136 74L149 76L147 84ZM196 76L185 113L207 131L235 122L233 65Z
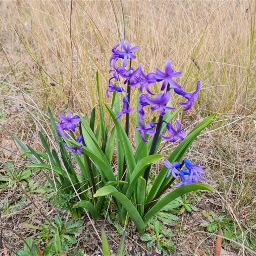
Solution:
M58 131L58 135L64 136L67 139L70 139L70 136L68 136L67 133L65 133L65 131L67 132L75 132L76 127L78 127L78 125L76 125L77 123L79 123L81 121L81 118L77 115L71 117L71 112L68 111L67 116L64 116L62 113L60 113L60 121L56 123L57 125L57 131ZM76 142L81 143L83 140L83 136L79 136L76 139ZM83 144L77 148L76 146L72 145L72 148L68 147L68 145L64 142L63 143L65 148L67 148L68 150L71 150L73 153L79 153L79 154L84 154L84 152L82 151L83 148Z

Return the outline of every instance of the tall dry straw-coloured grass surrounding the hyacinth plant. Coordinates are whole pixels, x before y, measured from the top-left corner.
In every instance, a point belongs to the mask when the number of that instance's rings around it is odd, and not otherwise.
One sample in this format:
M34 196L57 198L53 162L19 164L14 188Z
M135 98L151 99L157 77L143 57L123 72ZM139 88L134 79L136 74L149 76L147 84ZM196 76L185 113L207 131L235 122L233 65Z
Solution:
M196 80L202 81L198 103L182 117L183 124L192 127L210 113L218 113L188 156L207 167L221 209L243 230L239 255L245 255L244 246L252 246L248 236L256 236L256 2L122 3L126 40L141 47L134 66L142 62L145 72L153 72L172 59L174 70L183 72L177 81L185 90L194 90ZM120 39L117 24L121 39L124 35L120 2L114 1L117 23L110 1L74 0L70 24L70 4L50 0L0 2L0 136L1 146L11 151L15 151L10 146L12 132L27 143L34 134L32 142L40 147L36 132L51 133L48 106L55 110L55 116L67 109L90 112L98 102L97 70L100 97L108 101L108 59ZM20 161L6 150L0 154L5 160ZM181 228L180 255L198 253L193 247L182 251L184 241L197 232L197 227L190 226L191 231ZM204 236L199 239L203 241ZM208 245L200 243L205 255L211 251Z

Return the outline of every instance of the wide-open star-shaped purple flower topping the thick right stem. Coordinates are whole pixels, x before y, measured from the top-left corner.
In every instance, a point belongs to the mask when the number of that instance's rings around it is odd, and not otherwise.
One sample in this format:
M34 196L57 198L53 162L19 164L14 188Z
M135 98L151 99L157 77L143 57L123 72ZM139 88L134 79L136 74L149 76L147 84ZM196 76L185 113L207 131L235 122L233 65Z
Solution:
M166 87L166 84L170 84L170 88L181 88L181 85L178 84L176 81L172 80L172 77L180 76L181 72L174 72L172 69L172 61L167 60L165 63L165 69L164 72L160 70L159 68L156 68L156 79L157 81L164 80L161 91L163 91Z

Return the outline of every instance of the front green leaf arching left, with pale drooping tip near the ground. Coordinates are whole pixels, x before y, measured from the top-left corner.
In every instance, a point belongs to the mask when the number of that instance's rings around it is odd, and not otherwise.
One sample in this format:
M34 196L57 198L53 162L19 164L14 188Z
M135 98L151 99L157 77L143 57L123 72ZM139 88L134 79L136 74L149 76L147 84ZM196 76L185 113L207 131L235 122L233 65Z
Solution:
M132 204L130 200L128 200L126 196L118 192L115 187L105 186L103 188L100 188L99 190L97 190L96 194L94 194L93 196L96 197L96 196L108 196L108 195L116 197L116 199L124 206L125 210L129 213L138 231L140 233L143 232L143 229L145 228L145 224L142 218L140 217L140 214L137 211L136 207ZM125 221L125 219L121 221Z

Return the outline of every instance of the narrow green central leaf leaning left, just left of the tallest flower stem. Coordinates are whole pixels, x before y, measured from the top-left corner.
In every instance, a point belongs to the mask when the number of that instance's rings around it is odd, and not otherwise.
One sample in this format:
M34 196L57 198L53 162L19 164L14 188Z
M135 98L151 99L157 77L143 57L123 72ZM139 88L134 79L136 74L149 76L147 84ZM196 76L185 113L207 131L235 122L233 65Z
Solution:
M113 122L115 124L116 127L116 132L117 132L117 136L116 136L116 140L119 140L124 152L124 157L126 160L126 164L127 164L127 169L129 174L131 174L135 168L136 162L135 162L135 158L133 155L133 151L132 151L132 147L131 147L131 143L124 131L124 127L121 124L121 121L118 119L115 119L115 114L112 111L111 108L109 108L109 106L107 104L105 104L106 108L108 109L108 112L110 114L110 116L113 119Z

